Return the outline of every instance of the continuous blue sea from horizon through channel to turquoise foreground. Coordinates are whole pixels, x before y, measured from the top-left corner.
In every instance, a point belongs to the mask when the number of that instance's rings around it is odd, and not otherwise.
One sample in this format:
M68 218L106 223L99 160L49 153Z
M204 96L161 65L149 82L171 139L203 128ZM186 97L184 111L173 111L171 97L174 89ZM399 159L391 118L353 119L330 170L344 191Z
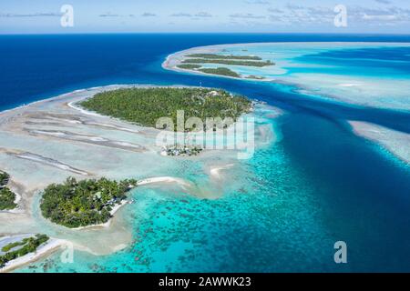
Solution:
M108 256L76 251L72 264L62 263L56 253L17 272L410 271L410 169L380 146L352 134L346 125L346 120L361 120L410 133L407 111L313 98L288 85L179 74L160 67L170 53L199 45L409 42L408 37L39 35L7 40L0 46L0 62L8 72L0 76L5 108L90 85L201 83L258 98L285 112L279 118L261 110L256 113L264 125L275 128L277 140L257 148L250 160L237 161L237 166L223 171L220 183L205 175L206 159L181 160L169 173L160 173L189 179L220 198L194 197L175 187L139 187L132 193L137 202L118 213L132 230L133 242L127 248ZM388 55L403 57L405 49ZM48 50L56 53L47 54ZM363 55L343 51L327 48L320 52L324 55L319 61L312 56L316 58L317 51L312 54L306 49L298 58L314 67L298 69L320 69L332 75L336 63L341 66L343 60L349 70ZM392 78L408 75L408 60L401 59L396 67L395 60L379 53L366 62L383 63L385 70L395 72ZM42 66L36 64L40 60ZM62 60L69 70L54 70ZM223 158L215 156L212 162ZM52 233L46 225L44 231ZM340 240L348 246L346 265L333 261L333 244Z

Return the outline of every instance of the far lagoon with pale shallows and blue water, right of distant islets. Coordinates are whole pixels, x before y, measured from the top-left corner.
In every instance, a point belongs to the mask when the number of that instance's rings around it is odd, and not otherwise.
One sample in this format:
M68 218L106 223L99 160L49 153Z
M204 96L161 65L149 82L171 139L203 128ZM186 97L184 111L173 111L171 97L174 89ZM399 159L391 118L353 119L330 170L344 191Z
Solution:
M264 67L228 65L245 77L258 75L297 85L320 99L328 96L353 105L410 109L408 44L270 43L214 48L225 55L258 55L275 63Z

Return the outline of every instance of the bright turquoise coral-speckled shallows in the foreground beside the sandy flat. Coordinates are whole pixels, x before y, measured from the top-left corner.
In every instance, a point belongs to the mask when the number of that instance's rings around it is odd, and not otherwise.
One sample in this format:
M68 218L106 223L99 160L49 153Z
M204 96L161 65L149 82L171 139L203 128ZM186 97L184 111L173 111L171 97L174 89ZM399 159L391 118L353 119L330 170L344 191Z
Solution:
M289 165L279 142L230 171L217 200L140 187L133 193L137 203L122 213L133 228L132 246L111 256L76 252L67 265L57 253L20 271L302 271L323 262L331 270L336 237L302 169ZM186 177L200 183L202 176L192 176L197 166L187 165Z

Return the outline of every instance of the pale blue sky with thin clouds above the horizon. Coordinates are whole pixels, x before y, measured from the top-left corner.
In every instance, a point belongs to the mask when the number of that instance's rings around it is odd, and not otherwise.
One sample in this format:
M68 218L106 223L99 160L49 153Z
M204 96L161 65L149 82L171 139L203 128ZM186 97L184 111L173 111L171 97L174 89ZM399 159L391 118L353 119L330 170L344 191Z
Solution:
M410 35L410 0L0 0L0 34L218 32Z

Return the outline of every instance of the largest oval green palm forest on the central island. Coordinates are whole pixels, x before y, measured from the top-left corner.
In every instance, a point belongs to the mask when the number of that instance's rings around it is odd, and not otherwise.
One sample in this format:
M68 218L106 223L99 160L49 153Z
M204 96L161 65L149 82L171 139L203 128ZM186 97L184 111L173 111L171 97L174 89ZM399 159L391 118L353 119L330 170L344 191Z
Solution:
M251 109L251 101L241 95L205 88L128 88L94 95L80 103L88 110L132 123L155 127L160 117L172 119L177 130L177 111L184 117L231 117L236 120Z

